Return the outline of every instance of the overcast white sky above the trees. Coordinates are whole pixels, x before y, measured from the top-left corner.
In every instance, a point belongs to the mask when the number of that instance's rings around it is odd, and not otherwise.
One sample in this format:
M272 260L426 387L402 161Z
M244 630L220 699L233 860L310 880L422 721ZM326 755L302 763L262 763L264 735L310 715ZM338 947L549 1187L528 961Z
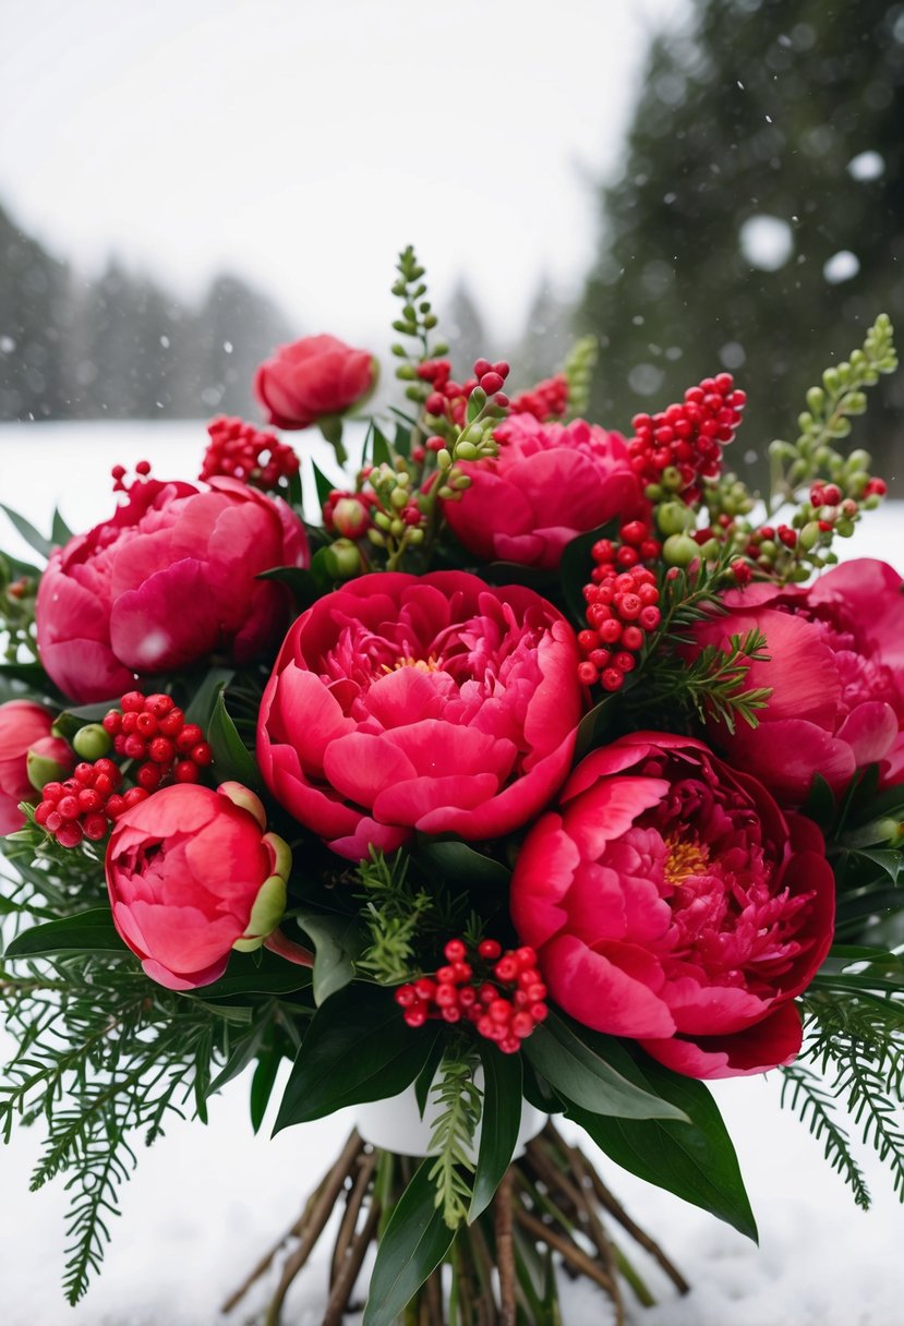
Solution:
M412 241L516 332L574 284L646 44L685 0L0 0L0 200L54 252L195 294L221 267L298 332L387 314ZM3 256L0 255L0 261Z

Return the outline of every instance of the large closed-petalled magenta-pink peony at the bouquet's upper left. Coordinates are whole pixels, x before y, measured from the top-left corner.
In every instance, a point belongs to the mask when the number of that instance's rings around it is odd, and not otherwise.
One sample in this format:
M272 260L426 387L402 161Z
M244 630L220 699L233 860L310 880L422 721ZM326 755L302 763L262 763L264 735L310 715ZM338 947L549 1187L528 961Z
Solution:
M254 577L306 565L304 525L278 497L236 479L137 483L110 520L50 557L36 607L41 663L81 704L213 652L245 663L280 639L290 611L284 585Z

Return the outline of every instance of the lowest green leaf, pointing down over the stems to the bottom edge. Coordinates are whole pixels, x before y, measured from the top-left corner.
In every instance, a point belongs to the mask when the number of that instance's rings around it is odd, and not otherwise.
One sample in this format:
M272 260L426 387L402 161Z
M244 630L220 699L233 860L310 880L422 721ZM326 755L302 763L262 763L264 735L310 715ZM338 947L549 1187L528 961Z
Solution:
M363 1326L395 1326L398 1317L452 1246L423 1162L402 1193L376 1249Z

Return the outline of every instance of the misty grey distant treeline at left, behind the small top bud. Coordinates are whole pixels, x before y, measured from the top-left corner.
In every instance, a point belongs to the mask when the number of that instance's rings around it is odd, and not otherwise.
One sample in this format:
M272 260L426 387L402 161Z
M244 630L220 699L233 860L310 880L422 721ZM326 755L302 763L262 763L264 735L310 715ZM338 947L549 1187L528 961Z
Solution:
M0 208L0 419L254 418L257 363L297 334L235 276L199 306L115 260L87 280Z

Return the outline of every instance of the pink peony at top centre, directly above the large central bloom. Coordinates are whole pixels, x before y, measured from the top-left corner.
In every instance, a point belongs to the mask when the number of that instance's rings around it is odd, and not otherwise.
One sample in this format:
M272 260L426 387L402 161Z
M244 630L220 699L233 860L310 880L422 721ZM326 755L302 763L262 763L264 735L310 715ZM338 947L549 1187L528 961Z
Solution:
M646 509L618 432L518 414L498 426L496 439L498 456L463 464L471 488L443 505L455 536L485 561L555 568L577 534Z

